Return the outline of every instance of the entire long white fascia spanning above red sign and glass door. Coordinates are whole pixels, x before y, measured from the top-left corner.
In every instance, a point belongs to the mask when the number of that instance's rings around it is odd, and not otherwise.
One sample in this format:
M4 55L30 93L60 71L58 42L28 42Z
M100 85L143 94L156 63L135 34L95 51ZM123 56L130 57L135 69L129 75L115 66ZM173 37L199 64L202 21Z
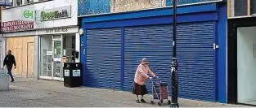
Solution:
M34 28L53 28L78 25L78 0L53 0L48 2L35 3L27 6L17 6L15 8L5 9L2 11L2 22L19 19L25 20L22 10L43 11L61 6L71 6L71 18L41 21L39 17L40 13L34 12Z

